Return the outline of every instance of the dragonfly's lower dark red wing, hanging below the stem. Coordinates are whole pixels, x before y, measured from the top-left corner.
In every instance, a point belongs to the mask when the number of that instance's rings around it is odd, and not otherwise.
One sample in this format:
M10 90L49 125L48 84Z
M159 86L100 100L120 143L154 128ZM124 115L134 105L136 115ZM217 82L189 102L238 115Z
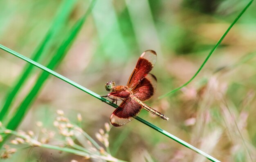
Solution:
M113 126L122 126L139 115L141 109L141 104L129 97L111 114L110 122Z

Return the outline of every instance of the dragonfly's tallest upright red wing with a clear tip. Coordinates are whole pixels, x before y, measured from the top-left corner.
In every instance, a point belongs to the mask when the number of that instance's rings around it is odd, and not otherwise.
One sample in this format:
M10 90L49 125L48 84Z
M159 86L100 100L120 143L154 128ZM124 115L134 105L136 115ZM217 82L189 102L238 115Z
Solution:
M155 53L155 51L144 51L139 57L135 69L130 75L127 86L132 89L137 84L139 84L139 82L141 82L146 77L146 75L153 69L156 61L157 53Z

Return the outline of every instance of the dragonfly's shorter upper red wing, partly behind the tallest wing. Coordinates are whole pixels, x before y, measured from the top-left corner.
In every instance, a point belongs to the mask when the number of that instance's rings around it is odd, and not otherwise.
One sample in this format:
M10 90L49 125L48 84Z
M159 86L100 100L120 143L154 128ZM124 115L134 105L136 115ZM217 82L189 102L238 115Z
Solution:
M141 101L149 100L156 91L157 78L155 75L148 74L134 89L132 89L133 95L135 95Z

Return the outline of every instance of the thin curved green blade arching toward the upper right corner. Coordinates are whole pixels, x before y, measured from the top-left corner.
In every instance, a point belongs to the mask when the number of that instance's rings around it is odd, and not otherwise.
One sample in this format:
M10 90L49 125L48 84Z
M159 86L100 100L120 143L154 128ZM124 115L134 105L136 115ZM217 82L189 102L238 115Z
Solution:
M195 73L195 75L193 75L193 77L186 82L185 84L183 84L182 86L173 89L172 91L161 95L159 97L159 99L164 98L168 95L170 95L171 93L174 93L176 91L179 91L180 89L182 89L183 87L185 87L186 85L188 85L197 75L198 73L202 70L202 68L204 67L204 64L206 64L206 62L208 61L208 59L210 58L211 54L213 53L213 51L215 51L215 49L220 45L220 43L222 42L222 40L225 38L225 36L227 35L227 33L230 31L230 29L234 26L234 24L236 24L236 22L238 21L238 19L244 14L244 12L248 9L248 7L252 4L254 0L251 0L246 7L243 9L243 11L241 11L241 13L239 13L239 15L236 17L236 19L231 23L231 25L229 26L229 28L227 29L227 31L222 35L222 37L220 38L220 40L217 42L217 44L213 47L213 49L211 49L210 53L207 55L207 58L204 60L204 62L202 63L202 65L200 66L200 68L198 69L198 71Z

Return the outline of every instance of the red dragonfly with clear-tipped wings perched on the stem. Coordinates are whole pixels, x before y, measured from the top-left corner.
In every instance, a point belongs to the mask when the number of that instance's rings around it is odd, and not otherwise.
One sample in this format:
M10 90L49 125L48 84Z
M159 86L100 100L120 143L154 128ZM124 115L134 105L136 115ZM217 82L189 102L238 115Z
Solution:
M142 109L157 115L159 118L169 120L164 114L144 104L156 91L157 79L149 72L153 69L157 60L157 53L152 50L144 51L137 61L126 86L115 86L115 82L106 82L105 88L108 93L106 97L114 101L123 102L111 114L110 122L113 126L122 126L139 115Z

